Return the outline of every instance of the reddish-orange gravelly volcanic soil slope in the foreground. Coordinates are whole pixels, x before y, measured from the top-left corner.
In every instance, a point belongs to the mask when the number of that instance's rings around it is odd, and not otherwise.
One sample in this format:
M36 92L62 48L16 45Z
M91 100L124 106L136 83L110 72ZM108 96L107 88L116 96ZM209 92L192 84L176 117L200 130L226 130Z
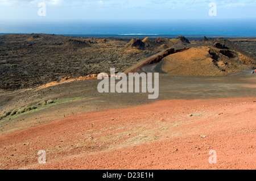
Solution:
M255 100L164 100L67 117L0 136L0 168L256 169Z

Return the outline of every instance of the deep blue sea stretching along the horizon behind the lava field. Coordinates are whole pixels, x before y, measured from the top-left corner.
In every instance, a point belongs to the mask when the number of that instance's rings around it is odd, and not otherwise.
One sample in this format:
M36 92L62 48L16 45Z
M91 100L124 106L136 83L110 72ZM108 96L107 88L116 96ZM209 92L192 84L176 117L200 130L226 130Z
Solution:
M256 19L134 21L1 21L0 33L56 35L222 35L256 36Z

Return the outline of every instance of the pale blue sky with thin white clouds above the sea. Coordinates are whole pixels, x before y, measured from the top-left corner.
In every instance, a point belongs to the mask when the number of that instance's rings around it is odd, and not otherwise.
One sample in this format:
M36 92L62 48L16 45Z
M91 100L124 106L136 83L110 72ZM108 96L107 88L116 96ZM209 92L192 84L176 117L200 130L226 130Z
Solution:
M46 16L38 15L40 2ZM209 16L210 2L216 2L217 16ZM0 20L256 18L255 10L256 0L0 0Z

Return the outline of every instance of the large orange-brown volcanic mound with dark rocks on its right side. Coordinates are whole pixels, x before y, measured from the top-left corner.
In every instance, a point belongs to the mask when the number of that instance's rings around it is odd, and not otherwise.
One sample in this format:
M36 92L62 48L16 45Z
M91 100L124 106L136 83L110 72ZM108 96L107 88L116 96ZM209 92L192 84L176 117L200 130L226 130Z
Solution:
M220 48L224 48L221 46ZM256 62L236 50L216 46L190 48L163 58L162 70L169 74L227 75L252 69Z

